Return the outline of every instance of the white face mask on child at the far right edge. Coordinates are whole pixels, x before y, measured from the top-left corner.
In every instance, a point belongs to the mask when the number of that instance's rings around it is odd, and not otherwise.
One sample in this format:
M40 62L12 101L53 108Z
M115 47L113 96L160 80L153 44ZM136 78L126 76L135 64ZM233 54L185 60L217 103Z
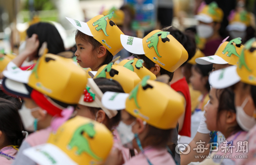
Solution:
M244 106L247 102L248 98L244 100L241 106L236 106L236 121L244 131L249 131L256 124L256 119L244 112Z

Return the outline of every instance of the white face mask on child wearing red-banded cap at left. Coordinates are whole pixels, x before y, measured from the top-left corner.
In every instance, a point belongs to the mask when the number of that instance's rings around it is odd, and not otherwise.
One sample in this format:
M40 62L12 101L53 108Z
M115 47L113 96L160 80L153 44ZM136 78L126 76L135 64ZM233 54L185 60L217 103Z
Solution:
M37 119L32 116L31 112L38 110L39 107L29 109L25 106L25 104L22 104L21 109L19 109L18 112L26 131L36 131Z

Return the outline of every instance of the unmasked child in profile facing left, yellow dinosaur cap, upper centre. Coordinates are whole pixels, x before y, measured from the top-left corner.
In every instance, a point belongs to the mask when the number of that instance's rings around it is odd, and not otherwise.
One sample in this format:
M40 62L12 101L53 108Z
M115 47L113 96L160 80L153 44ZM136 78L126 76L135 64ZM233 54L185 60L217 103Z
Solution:
M76 60L82 68L97 71L101 66L112 61L120 50L120 34L123 32L110 19L114 11L106 16L98 15L88 22L67 18L75 26L76 31Z

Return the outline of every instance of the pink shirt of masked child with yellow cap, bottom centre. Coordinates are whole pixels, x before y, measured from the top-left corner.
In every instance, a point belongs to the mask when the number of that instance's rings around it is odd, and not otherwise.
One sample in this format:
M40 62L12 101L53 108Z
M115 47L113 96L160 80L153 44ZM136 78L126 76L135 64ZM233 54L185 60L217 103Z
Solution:
M144 154L153 165L176 165L172 155L165 148L146 148ZM125 165L149 165L146 157L140 152L132 157Z

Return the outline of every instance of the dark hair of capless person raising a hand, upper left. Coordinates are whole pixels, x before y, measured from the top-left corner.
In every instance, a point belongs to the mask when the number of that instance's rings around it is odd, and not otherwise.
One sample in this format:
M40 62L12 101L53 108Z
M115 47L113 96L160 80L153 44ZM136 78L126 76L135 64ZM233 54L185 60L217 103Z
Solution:
M29 38L33 34L38 35L38 51L44 42L47 42L48 53L58 54L65 51L64 43L60 33L52 24L39 22L37 24L31 25L27 30L27 34Z

